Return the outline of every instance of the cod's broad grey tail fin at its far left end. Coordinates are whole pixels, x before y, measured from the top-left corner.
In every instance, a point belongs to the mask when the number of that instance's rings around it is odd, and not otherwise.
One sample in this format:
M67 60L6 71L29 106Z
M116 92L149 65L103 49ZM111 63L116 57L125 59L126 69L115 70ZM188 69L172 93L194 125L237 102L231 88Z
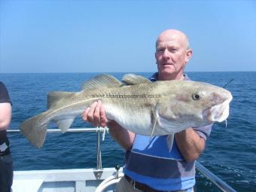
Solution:
M35 147L41 148L44 144L45 136L47 133L47 123L40 124L41 118L44 113L38 114L34 117L25 120L20 125L20 130L26 138Z

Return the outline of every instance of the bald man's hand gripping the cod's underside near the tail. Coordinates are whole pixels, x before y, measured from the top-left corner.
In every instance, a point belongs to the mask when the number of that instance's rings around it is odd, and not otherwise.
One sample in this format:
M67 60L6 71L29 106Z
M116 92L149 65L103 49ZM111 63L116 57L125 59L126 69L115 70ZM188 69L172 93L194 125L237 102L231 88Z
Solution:
M92 123L93 126L107 126L108 124L105 108L100 100L93 102L90 107L85 108L82 118L84 121Z

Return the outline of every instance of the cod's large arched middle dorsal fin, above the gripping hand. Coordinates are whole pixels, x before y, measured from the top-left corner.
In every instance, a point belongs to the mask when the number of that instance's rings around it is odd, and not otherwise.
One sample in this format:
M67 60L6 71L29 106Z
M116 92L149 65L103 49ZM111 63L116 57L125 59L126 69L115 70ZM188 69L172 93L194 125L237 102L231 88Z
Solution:
M122 83L114 78L112 75L97 75L94 78L91 78L89 81L86 81L82 89L83 90L94 90L102 87L120 87Z

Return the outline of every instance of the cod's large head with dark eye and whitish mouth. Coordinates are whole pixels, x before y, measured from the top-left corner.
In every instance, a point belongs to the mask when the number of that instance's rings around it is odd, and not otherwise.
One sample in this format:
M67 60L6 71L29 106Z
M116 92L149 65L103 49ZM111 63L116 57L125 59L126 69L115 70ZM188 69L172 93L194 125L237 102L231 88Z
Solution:
M170 127L168 133L221 122L229 115L232 95L224 88L196 81L169 81L165 86L169 92L157 104L156 112L160 126ZM181 130L171 130L178 126Z

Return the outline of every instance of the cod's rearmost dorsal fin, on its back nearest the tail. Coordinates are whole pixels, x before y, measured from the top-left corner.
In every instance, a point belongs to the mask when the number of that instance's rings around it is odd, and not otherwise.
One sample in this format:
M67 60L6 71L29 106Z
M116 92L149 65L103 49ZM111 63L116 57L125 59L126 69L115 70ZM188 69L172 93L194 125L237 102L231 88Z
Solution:
M52 108L60 99L74 96L75 92L53 91L47 95L47 108Z

